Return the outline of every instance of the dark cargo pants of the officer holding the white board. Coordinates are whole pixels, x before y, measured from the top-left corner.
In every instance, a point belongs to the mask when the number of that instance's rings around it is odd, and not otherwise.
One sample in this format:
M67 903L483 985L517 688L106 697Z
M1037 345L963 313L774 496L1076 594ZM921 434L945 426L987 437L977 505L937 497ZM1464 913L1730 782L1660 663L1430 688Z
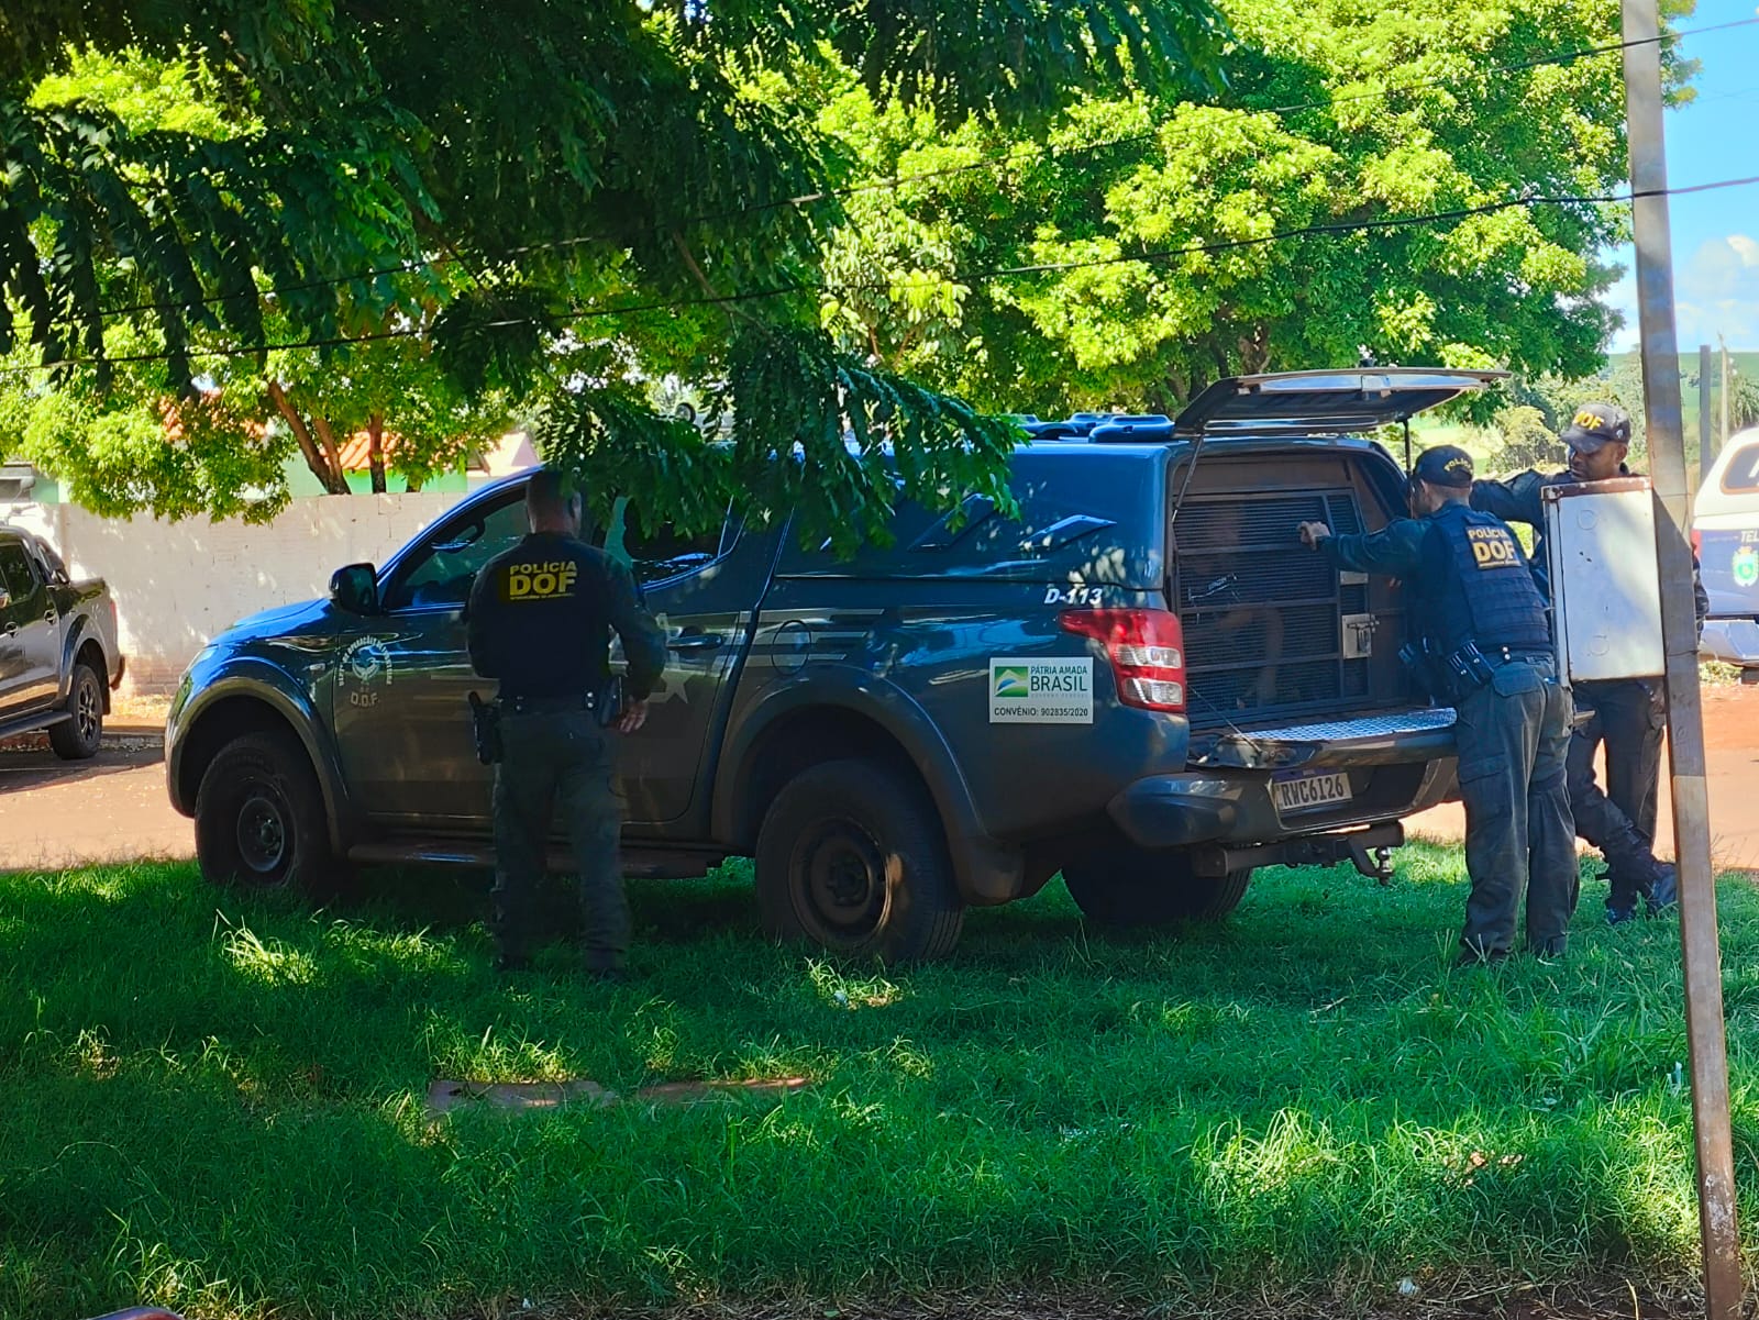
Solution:
M1660 687L1638 680L1576 685L1576 708L1594 712L1569 738L1569 807L1576 833L1601 849L1620 912L1655 886L1655 794L1666 707ZM1606 791L1594 754L1606 743Z

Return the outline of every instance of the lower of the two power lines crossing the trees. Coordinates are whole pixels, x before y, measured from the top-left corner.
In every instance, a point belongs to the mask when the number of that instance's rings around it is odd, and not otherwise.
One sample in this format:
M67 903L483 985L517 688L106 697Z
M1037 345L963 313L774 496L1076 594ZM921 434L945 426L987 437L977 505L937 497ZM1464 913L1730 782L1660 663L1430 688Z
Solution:
M1131 262L1154 264L1154 262L1173 260L1175 257L1191 257L1191 255L1214 253L1214 251L1233 251L1233 250L1238 250L1238 248L1258 248L1258 246L1265 246L1265 244L1270 244L1270 243L1286 243L1289 239L1305 239L1305 237L1321 237L1321 236L1337 236L1337 234L1372 234L1372 232L1383 232L1383 230L1391 230L1391 228L1409 228L1409 227L1416 227L1416 225L1435 225L1435 223L1442 223L1442 221L1449 221L1449 220L1469 220L1472 216L1493 214L1497 211L1527 209L1527 207L1537 207L1537 206L1604 206L1604 204L1613 204L1613 202L1631 202L1631 200L1636 200L1638 197L1657 197L1657 195L1680 197L1680 195L1685 195L1685 193L1715 192L1715 190L1722 190L1722 188L1747 188L1747 186L1752 186L1752 185L1759 185L1759 174L1740 178L1740 179L1715 179L1712 183L1694 183L1694 185L1685 185L1685 186L1678 186L1678 188L1650 190L1650 192L1602 193L1602 195L1574 195L1574 197L1571 197L1571 195L1564 195L1564 197L1513 197L1513 199L1504 199L1500 202L1485 202L1481 206L1455 207L1455 209L1449 209L1449 211L1428 211L1428 213L1412 214L1412 216L1384 216L1381 220L1349 220L1349 221L1337 221L1337 223L1300 225L1296 228L1277 230L1277 232L1272 232L1272 234L1259 234L1259 236L1245 237L1245 239L1215 239L1215 241L1210 241L1210 243L1193 243L1193 244L1187 244L1187 246L1182 246L1182 248L1163 248L1163 250L1157 250L1157 251L1145 251L1145 253L1135 253L1135 255L1092 257L1092 258L1077 260L1077 262L1041 262L1041 264L1036 264L1036 265L1001 265L1001 267L990 267L987 271L966 272L960 278L966 283L989 283L989 281L994 281L994 279L1006 279L1006 278L1025 276L1025 274L1052 274L1052 272L1082 271L1082 269L1105 267L1105 265L1126 265L1126 264L1131 264ZM725 304L732 304L732 302L751 302L751 301L760 301L760 299L788 297L788 295L793 295L793 294L853 294L853 292L864 292L864 290L881 290L881 288L899 288L899 286L904 286L904 288L918 286L920 288L923 285L920 285L920 283L918 285L909 285L909 283L897 285L894 281L867 281L867 283L853 283L853 285L807 285L807 283L793 283L793 285L777 285L777 286L770 286L770 288L742 290L742 292L737 292L737 294L714 294L714 295L704 295L704 297L693 297L693 299L670 299L670 301L660 301L660 302L633 302L633 304L623 304L623 306L616 306L616 308L570 308L566 315L572 316L572 318L575 318L575 320L595 320L595 318L603 318L603 316L633 316L633 315L642 315L642 313L649 313L649 311L677 311L677 309L682 309L682 308L725 306ZM533 323L533 318L529 318L529 316L510 316L510 318L501 318L501 320L493 320L493 322L478 322L477 329L498 329L498 327L508 327L508 325L531 325L531 323ZM296 341L296 343L239 345L239 346L227 346L227 348L199 348L199 350L190 350L186 353L167 353L167 352L160 352L160 353L128 353L128 355L123 355L123 357L106 357L102 360L107 362L107 364L113 364L113 366L120 366L120 364L139 364L139 362L167 362L167 360L171 360L174 357L185 357L185 359L253 357L257 353L271 353L271 352L294 352L294 350L308 350L308 348L336 348L336 346L343 346L343 345L373 343L373 341L380 341L380 339L408 339L408 337L415 337L415 336L420 336L420 334L426 334L426 330L422 327L408 327L408 329L399 329L399 330L378 330L378 332L359 334L359 336L334 336L334 337L327 337L327 339L303 339L303 341ZM55 369L55 367L95 366L99 360L100 359L91 359L91 357L83 357L83 359L56 359L53 362L39 362L39 364L33 364L33 366L0 367L0 374L16 376L16 374L30 373L30 371L49 371L49 369Z

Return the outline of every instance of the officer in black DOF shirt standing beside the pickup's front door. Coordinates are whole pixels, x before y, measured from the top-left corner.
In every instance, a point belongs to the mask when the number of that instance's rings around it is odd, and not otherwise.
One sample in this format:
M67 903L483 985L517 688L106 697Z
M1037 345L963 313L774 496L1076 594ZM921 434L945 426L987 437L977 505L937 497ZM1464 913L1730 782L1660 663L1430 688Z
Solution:
M531 534L484 566L466 606L471 668L500 680L491 925L496 967L526 967L551 810L559 807L580 872L588 972L621 981L630 910L607 728L616 712L603 708L612 691L610 629L628 656L628 705L614 719L624 735L647 719L647 694L665 670L665 635L642 608L628 568L579 540L580 504L561 473L533 473Z

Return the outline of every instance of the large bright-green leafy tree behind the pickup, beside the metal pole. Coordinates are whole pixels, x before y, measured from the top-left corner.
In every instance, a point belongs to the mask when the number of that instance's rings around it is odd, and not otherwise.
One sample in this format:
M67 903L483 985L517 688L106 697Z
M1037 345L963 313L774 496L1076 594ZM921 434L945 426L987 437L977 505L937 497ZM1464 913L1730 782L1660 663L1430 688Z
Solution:
M1601 367L1618 318L1597 253L1625 207L1507 204L1620 190L1618 51L1548 58L1617 44L1613 0L1223 11L1226 93L1092 98L1041 144L983 121L948 134L853 77L827 86L820 127L908 181L851 206L830 251L872 276L827 297L827 323L1029 411L1168 410L1221 374L1363 346L1383 364ZM1689 74L1669 56L1675 97ZM1397 223L1425 213L1469 214ZM1340 228L1275 237L1323 227Z

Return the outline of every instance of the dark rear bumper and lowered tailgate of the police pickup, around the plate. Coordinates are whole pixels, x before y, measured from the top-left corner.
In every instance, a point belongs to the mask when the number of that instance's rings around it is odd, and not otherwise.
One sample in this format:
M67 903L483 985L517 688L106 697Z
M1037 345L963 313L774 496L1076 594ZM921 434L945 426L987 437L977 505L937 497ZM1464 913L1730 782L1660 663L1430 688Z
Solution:
M1453 794L1453 756L1446 708L1233 731L1186 773L1138 779L1106 814L1138 847L1191 849L1200 870L1217 868L1207 874L1346 858L1361 868L1363 849L1404 842L1397 821ZM1272 786L1291 770L1340 775L1349 800L1279 807Z

